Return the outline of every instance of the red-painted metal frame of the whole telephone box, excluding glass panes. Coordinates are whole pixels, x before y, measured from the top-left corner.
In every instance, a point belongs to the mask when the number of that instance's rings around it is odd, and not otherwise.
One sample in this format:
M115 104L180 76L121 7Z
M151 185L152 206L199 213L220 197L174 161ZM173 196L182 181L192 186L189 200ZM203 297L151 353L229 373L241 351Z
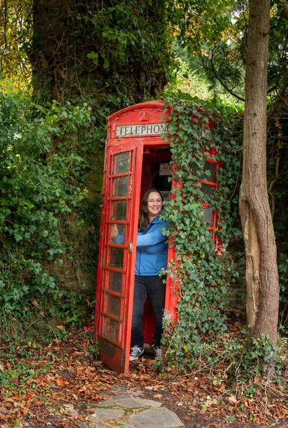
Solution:
M136 104L113 114L108 118L108 137L106 141L106 160L103 178L103 208L101 213L101 236L99 245L99 265L98 265L98 280L97 280L97 295L96 295L96 318L95 318L95 339L101 345L101 358L108 367L118 372L128 372L129 370L129 352L130 352L130 330L133 312L133 291L134 291L134 272L135 272L135 250L137 241L138 228L138 211L140 205L140 196L149 183L143 183L145 172L142 169L143 165L143 149L145 151L156 150L156 148L168 148L169 142L164 141L160 136L160 130L164 129L165 118L170 113L170 108L165 111L165 103L163 101L150 101L148 103ZM192 120L199 123L199 118L195 116ZM163 124L163 126L162 126ZM214 123L210 121L207 127L211 129ZM206 127L206 126L205 126ZM150 135L150 131L158 134ZM140 135L140 133L142 135ZM113 159L120 153L130 152L135 156L133 158L133 168L129 173L113 173ZM216 163L217 170L219 162L213 160L215 151L210 151L211 158L208 162ZM149 153L148 153L149 156ZM144 165L145 167L145 165ZM114 171L115 172L115 171ZM141 174L143 176L141 177ZM112 181L120 180L128 176L129 194L125 196L113 196ZM142 183L141 183L142 180ZM205 185L217 187L217 182L207 182L200 180ZM172 181L172 190L178 183ZM114 189L115 190L115 189ZM173 195L172 195L173 197ZM111 207L113 202L115 205L127 201L128 217L125 220L112 219ZM203 204L203 206L209 206ZM125 225L125 240L123 244L111 242L109 238L111 225L118 225L118 228ZM213 213L213 224L209 229L212 230L212 238L215 242L215 231L217 228L217 213ZM133 251L129 253L129 244L133 242ZM110 263L110 255L113 251L123 251L123 268L113 267ZM169 248L168 260L176 260L175 248ZM110 263L110 265L109 265ZM112 266L111 266L112 265ZM112 273L111 273L112 272ZM121 274L124 278L121 292L117 290L109 290L109 275ZM167 278L166 285L166 300L165 310L166 315L172 320L176 320L177 311L176 305L178 301L178 280L170 277ZM120 305L116 305L118 313L111 315L108 308L108 300L120 299ZM116 311L116 312L117 312ZM148 317L149 318L149 317ZM109 332L105 330L105 322L107 320L113 325L119 325L118 334L112 334L109 337ZM118 324L117 324L118 323ZM149 330L149 329L148 329ZM150 335L150 332L149 332Z

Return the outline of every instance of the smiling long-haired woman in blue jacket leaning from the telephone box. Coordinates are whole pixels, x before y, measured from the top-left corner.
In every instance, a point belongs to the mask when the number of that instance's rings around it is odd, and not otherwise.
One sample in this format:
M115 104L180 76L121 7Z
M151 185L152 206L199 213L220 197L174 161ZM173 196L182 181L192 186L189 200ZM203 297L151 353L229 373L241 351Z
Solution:
M137 237L130 361L138 360L144 352L142 316L147 295L155 317L155 358L161 357L165 284L159 271L167 269L168 256L168 238L163 235L168 221L160 220L162 208L163 196L157 189L150 189L143 195Z

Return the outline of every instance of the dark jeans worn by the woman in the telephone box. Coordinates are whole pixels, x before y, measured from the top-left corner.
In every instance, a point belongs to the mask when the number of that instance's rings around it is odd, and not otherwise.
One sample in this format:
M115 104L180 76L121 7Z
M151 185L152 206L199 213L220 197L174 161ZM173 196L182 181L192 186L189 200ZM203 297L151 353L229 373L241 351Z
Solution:
M166 289L165 284L163 284L163 279L163 277L160 278L158 275L135 275L131 334L133 345L138 345L140 347L144 345L142 316L145 300L148 295L155 317L155 347L160 346Z

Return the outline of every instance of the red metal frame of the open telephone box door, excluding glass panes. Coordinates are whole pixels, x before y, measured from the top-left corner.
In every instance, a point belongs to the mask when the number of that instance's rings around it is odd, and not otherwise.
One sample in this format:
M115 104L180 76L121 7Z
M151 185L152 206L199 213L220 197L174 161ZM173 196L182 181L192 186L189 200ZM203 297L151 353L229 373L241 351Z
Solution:
M130 168L128 173L113 172L113 161L115 156L130 153ZM103 209L101 221L101 240L99 245L99 265L98 265L98 287L96 297L96 340L101 345L101 357L104 363L118 372L128 372L129 349L130 349L130 328L131 322L127 308L132 306L133 282L135 270L135 251L129 252L129 245L135 245L137 240L138 218L133 213L135 207L139 205L140 195L140 175L142 166L142 146L138 141L124 141L119 146L108 147L106 151L106 168L104 173L103 186ZM127 178L127 196L113 195L113 182ZM114 186L114 193L118 193ZM134 197L136 195L136 197ZM137 196L138 195L138 196ZM111 214L113 203L126 202L127 213L125 220L113 220ZM125 225L127 231L124 235L124 243L116 244L110 240L110 228L112 225ZM113 265L111 257L113 253L117 255L123 253L121 257L122 267ZM134 267L134 268L133 268ZM109 289L109 275L122 276L120 292ZM118 298L119 314L113 315L108 312L107 300ZM110 335L107 325L114 326L117 332Z

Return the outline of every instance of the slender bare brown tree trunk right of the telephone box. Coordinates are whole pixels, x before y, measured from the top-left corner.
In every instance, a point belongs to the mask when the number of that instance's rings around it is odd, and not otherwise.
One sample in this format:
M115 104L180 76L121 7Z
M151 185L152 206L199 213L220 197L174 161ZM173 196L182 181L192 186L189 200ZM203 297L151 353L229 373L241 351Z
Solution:
M276 345L279 282L266 177L269 6L268 0L250 0L240 215L249 337L267 334Z

